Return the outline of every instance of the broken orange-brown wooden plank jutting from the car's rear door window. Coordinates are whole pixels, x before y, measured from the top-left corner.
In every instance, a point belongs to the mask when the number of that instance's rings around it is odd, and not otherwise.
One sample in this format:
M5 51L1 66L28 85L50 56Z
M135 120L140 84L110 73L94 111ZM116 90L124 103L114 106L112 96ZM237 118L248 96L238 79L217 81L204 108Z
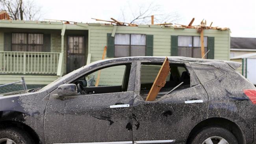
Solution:
M165 83L166 83L165 80L169 73L170 73L169 60L167 57L165 57L163 65L161 66L158 72L158 75L156 76L156 79L146 98L146 101L154 101L156 99L158 92L161 90L162 87L165 86Z

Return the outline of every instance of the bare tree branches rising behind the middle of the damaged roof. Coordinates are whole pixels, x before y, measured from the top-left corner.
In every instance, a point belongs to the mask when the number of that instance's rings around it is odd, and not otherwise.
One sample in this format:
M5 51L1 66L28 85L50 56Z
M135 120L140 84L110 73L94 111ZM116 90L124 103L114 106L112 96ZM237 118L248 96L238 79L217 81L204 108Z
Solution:
M154 15L155 23L170 23L180 20L180 16L177 12L173 11L170 13L165 13L162 11L162 6L155 4L154 2L149 4L141 4L137 7L132 7L128 2L128 6L121 8L119 20L129 20L128 22L131 24L150 24L152 15Z

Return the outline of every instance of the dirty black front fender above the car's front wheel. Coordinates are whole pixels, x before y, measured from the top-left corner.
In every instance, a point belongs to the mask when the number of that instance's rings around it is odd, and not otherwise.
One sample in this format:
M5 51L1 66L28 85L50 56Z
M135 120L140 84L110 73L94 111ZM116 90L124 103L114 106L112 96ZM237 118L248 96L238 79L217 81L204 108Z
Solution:
M33 92L13 96L0 97L0 124L18 122L30 127L39 137L44 139L44 115L48 102L47 92Z

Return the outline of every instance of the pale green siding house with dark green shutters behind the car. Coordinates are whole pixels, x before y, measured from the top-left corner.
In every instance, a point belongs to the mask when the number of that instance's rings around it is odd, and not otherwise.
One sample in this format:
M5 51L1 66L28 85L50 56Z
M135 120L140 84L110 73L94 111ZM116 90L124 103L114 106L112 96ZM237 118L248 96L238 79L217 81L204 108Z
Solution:
M0 20L0 85L46 85L83 65L126 56L201 57L197 29ZM229 60L230 30L204 30L208 59Z

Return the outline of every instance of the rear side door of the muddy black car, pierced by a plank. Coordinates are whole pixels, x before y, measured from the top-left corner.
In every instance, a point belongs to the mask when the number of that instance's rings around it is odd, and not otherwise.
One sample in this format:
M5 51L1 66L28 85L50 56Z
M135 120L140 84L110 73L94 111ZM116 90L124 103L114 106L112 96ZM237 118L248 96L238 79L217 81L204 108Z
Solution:
M207 116L206 91L200 85L189 63L170 61L171 74L167 77L169 81L166 81L165 87L160 90L155 101L145 101L145 91L149 87L148 83L143 81L146 79L149 82L151 79L152 86L158 71L143 68L143 64L148 67L156 65L152 62L137 64L137 85L132 110L134 142L172 144L186 141L191 129ZM155 74L151 74L154 71ZM184 83L167 94L181 82Z

